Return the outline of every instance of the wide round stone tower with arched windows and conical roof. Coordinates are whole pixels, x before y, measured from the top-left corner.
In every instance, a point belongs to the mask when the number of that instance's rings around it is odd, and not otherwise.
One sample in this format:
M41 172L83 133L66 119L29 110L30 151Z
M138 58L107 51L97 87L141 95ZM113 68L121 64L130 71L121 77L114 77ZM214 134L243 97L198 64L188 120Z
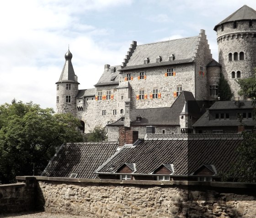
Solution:
M248 78L256 67L256 11L244 5L214 27L217 31L219 64L234 97L236 80Z

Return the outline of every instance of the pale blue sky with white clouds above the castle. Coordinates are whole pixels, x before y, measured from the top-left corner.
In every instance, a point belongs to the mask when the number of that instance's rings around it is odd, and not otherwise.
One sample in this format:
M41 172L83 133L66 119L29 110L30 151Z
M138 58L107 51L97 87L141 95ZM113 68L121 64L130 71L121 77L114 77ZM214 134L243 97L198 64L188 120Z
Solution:
M214 26L256 0L8 0L0 7L0 105L17 101L55 108L56 85L72 64L79 89L93 88L104 65L121 65L137 45L206 30L218 61Z

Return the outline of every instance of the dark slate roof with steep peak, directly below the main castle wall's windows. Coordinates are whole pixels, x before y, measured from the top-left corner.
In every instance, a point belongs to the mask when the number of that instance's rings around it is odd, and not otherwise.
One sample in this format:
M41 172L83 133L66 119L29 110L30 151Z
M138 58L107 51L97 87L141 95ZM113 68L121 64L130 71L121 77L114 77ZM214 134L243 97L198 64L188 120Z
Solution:
M176 101L171 107L144 108L131 110L131 126L179 126L180 113L187 102L188 111L194 117L200 117L200 109L197 102L190 91L182 91L176 98ZM141 121L137 121L137 117L142 117ZM123 126L123 121L120 118L108 126Z

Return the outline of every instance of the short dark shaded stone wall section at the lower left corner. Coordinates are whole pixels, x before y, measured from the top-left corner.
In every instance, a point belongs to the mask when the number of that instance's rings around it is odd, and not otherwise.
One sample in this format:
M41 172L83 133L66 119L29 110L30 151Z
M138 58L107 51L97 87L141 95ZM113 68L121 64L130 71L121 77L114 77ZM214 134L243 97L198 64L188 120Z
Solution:
M0 213L17 213L35 209L35 178L23 183L0 185Z

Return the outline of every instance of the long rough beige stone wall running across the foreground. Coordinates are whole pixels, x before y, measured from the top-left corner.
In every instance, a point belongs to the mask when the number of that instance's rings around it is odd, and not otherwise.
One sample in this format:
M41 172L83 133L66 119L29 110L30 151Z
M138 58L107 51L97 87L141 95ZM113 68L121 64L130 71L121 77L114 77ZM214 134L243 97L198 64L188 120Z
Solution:
M256 184L50 177L37 181L37 201L46 212L91 218L256 217Z

